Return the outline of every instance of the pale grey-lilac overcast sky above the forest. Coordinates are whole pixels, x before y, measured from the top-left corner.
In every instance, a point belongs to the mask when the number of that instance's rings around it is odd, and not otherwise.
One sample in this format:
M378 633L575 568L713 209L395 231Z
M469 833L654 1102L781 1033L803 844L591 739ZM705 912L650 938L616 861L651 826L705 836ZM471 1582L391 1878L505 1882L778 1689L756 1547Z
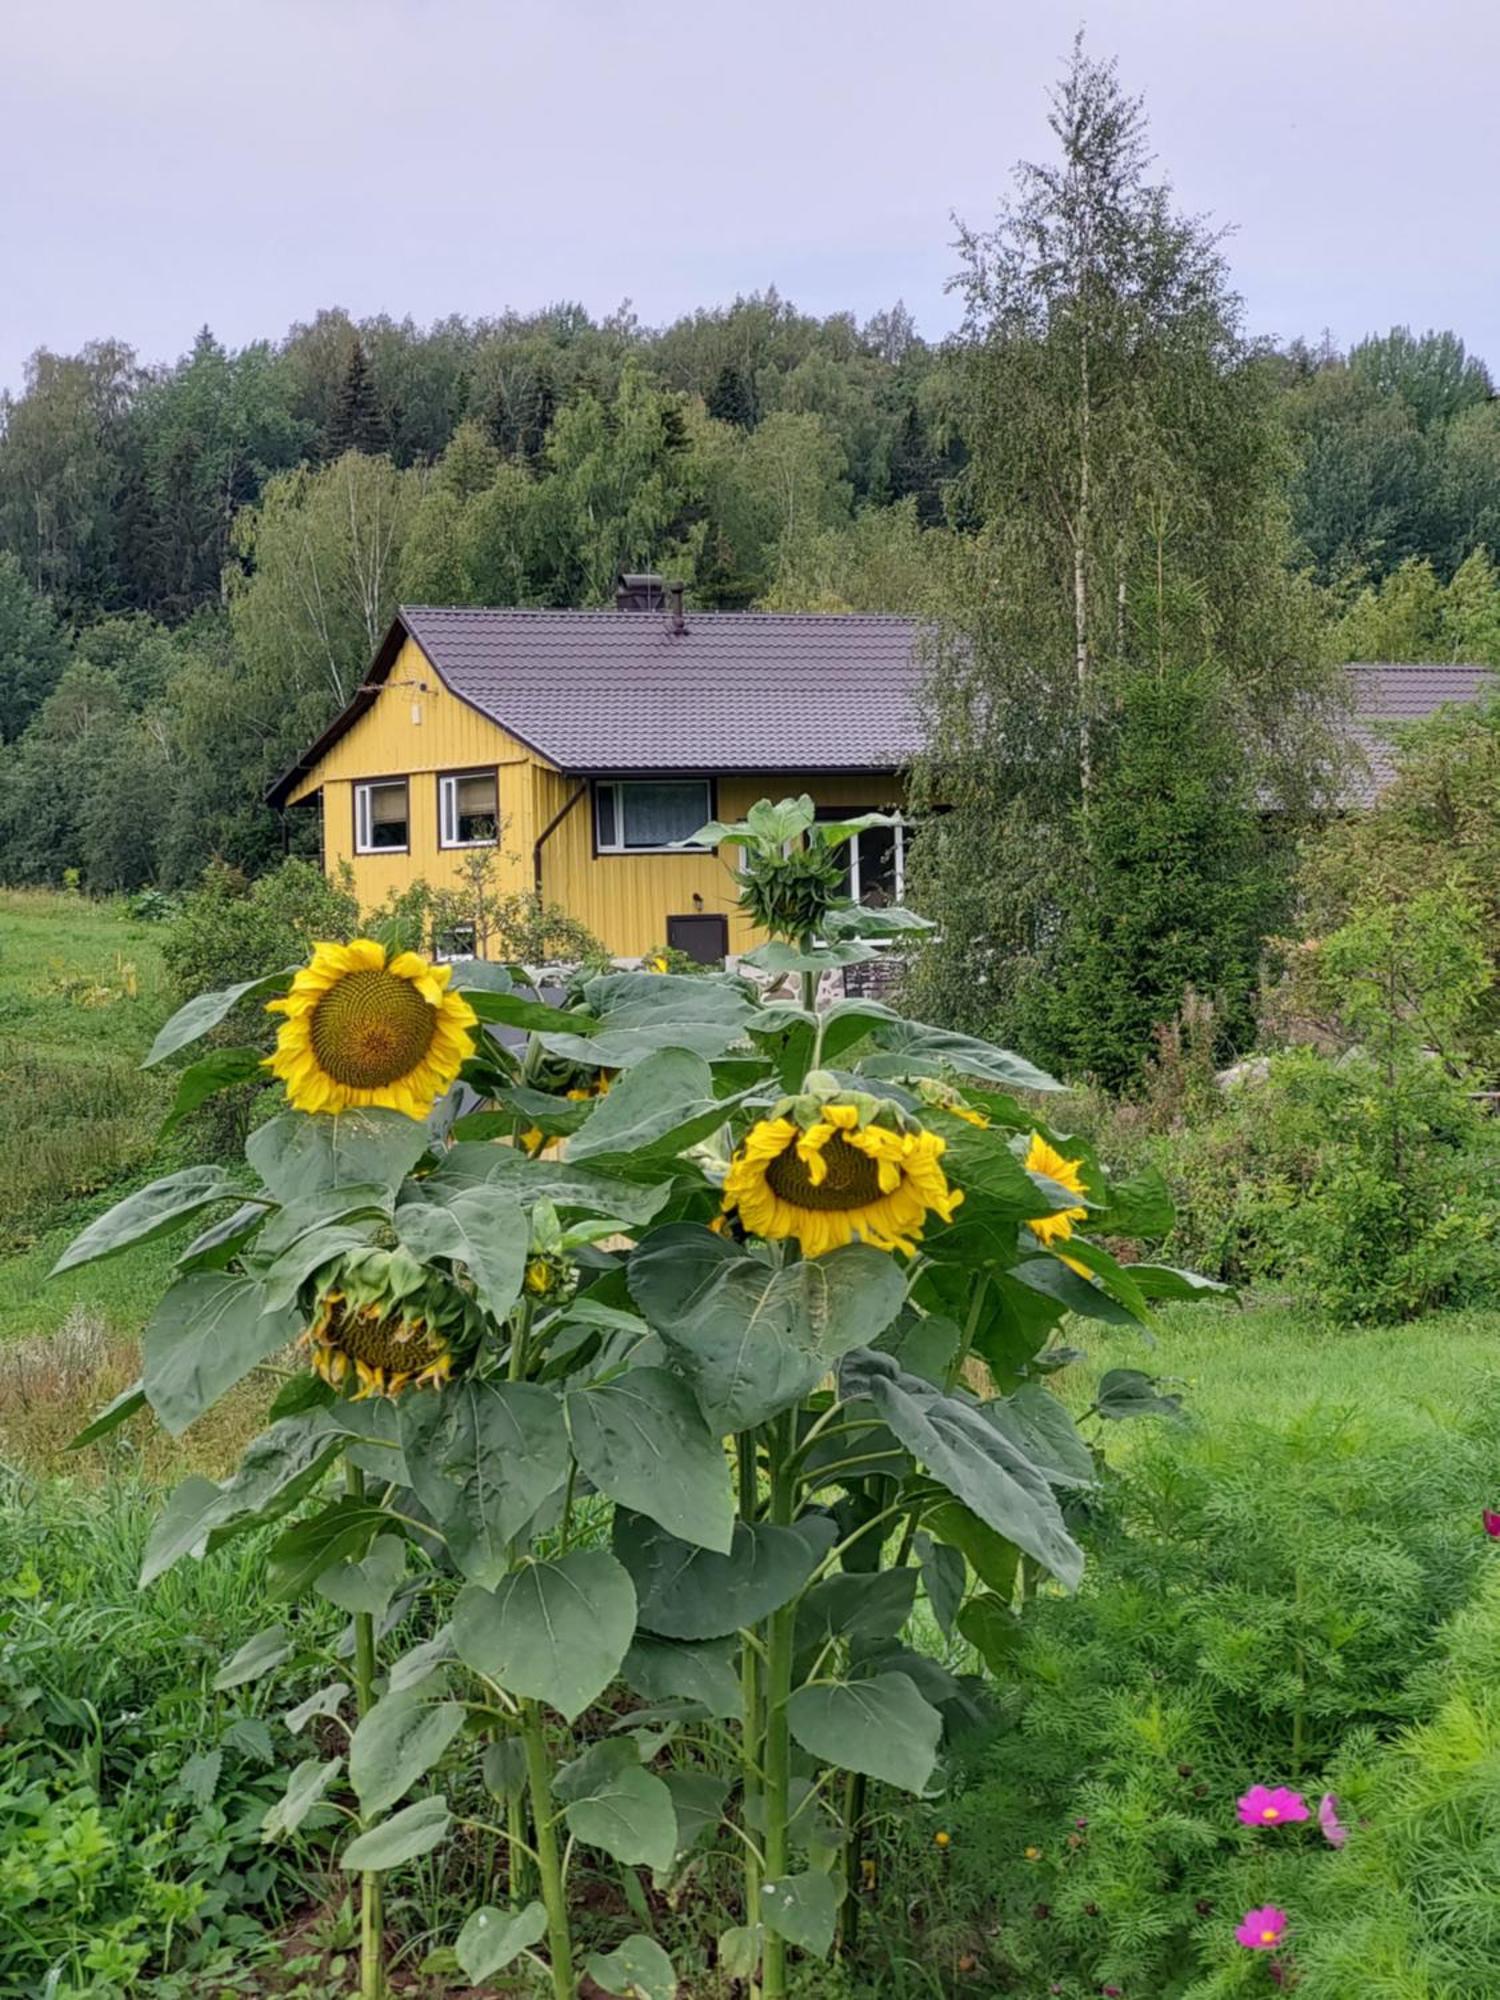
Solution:
M1046 148L1080 20L1236 224L1256 332L1452 326L1500 368L1496 0L4 0L0 386L334 304L658 324L776 284L942 334L950 212Z

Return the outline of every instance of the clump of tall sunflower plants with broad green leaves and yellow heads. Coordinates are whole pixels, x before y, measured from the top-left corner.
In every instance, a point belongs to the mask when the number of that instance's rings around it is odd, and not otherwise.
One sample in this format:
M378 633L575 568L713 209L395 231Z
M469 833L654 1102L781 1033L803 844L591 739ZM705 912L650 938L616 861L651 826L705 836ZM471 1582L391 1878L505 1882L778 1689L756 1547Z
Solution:
M572 1996L582 1850L638 1926L596 1982L676 1986L648 1868L712 1882L720 1972L784 2000L794 1952L852 1940L870 1788L922 1794L972 1706L908 1644L918 1594L1004 1666L1018 1604L1078 1582L1068 1512L1098 1468L1046 1388L1058 1322L1138 1326L1206 1288L1102 1246L1160 1234L1160 1186L1110 1184L1026 1112L1016 1088L1056 1086L1020 1056L878 1002L818 1010L872 932L920 922L836 894L864 824L814 828L804 798L714 830L794 926L752 966L800 1004L670 972L550 1004L374 940L190 1000L148 1060L266 1002L290 1108L244 1168L136 1190L58 1262L196 1228L140 1384L86 1438L144 1404L184 1432L278 1378L238 1472L176 1488L142 1580L276 1526L274 1616L218 1686L284 1672L310 1606L348 1616L346 1678L302 1704L332 1728L262 1830L338 1826L364 2000L388 1878L458 1838L504 1858L504 1906L496 1884L452 1942L472 1980L532 1960ZM454 1118L432 1098L460 1064L482 1108ZM180 1100L224 1082L200 1056ZM1132 1406L1146 1378L1100 1394Z

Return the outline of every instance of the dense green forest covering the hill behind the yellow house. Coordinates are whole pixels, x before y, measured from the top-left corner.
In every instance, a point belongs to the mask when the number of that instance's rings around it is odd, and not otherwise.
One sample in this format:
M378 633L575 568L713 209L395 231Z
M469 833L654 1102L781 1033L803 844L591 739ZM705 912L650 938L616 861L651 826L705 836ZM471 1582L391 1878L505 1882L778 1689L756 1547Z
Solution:
M394 604L938 610L990 526L976 338L766 292L630 310L208 330L172 366L38 352L0 400L0 874L248 872L266 784ZM1344 658L1500 660L1500 404L1454 334L1254 356L1294 562ZM1016 496L1008 496L1016 504Z

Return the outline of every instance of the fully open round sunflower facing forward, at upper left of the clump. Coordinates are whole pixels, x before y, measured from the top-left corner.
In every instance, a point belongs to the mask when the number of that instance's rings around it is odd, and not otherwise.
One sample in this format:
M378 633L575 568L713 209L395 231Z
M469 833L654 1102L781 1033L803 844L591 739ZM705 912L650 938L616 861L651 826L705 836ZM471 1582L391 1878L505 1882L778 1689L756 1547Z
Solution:
M290 994L266 1002L286 1016L266 1068L300 1112L384 1104L426 1118L474 1054L478 1016L450 978L418 952L386 958L374 938L316 944Z

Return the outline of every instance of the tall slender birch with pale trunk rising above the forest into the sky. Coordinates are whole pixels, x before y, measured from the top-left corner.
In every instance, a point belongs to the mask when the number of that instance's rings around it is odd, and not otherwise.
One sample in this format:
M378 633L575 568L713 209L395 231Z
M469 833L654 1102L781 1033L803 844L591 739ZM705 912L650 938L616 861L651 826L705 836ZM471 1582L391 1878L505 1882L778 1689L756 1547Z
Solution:
M1274 384L1222 234L1174 206L1140 98L1082 40L1050 130L1054 158L1016 168L994 228L960 228L970 464L950 510L978 534L934 634L916 772L918 804L944 808L914 844L942 924L920 1004L1008 1032L1098 916L1090 828L1136 690L1192 674L1204 740L1242 746L1226 812L1274 800L1290 826L1328 752ZM1118 882L1116 810L1108 842ZM1150 1020L1180 994L1144 998ZM1048 1028L1062 1060L1054 1012Z

